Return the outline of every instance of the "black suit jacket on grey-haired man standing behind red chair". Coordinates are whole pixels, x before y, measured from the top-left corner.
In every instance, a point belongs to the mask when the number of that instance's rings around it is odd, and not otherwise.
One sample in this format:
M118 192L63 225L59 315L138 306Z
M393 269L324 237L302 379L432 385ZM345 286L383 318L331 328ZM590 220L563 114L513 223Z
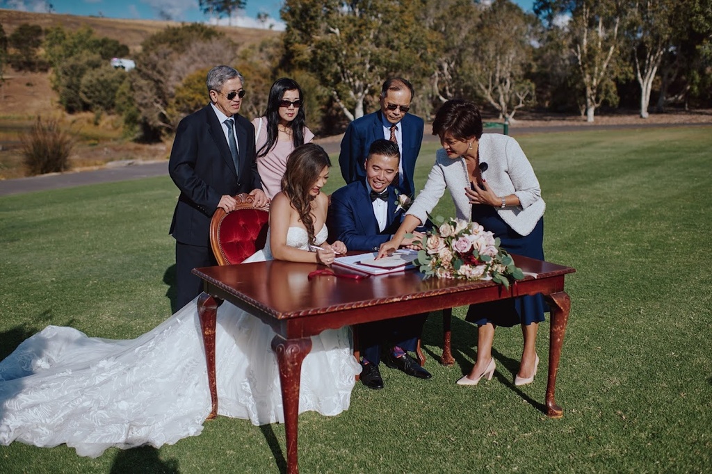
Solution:
M235 169L225 132L210 104L178 125L168 172L180 189L169 233L181 243L210 246L210 219L225 194L261 189L255 161L255 129L233 115L239 149Z

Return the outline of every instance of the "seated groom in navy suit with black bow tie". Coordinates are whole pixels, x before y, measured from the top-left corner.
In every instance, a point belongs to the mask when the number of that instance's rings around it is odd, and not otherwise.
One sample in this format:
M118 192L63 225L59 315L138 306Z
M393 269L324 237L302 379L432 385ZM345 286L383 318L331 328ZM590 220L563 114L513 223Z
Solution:
M328 223L335 240L350 251L377 251L401 223L404 209L397 209L397 194L391 182L398 177L398 145L387 139L371 144L365 160L365 178L353 181L331 195ZM422 236L407 238L402 245L418 242ZM382 389L378 365L384 345L385 364L410 376L429 379L430 373L408 354L417 346L427 313L359 325L362 383L370 389Z

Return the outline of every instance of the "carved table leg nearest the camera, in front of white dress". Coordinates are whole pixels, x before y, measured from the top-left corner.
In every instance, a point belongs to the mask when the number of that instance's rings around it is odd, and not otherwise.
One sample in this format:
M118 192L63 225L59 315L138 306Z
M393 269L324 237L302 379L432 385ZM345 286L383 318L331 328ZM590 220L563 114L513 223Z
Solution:
M284 431L287 435L287 472L298 473L299 381L302 374L302 362L311 350L311 338L284 339L277 335L272 339L272 349L277 354L279 380L282 385Z

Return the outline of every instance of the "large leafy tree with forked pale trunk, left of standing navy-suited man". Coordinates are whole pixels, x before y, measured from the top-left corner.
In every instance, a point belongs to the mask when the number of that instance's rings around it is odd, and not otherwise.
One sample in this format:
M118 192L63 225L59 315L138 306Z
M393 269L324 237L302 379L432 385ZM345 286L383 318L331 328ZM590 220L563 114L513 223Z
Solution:
M286 0L281 15L288 66L315 75L348 120L365 114L387 75L422 63L411 2Z

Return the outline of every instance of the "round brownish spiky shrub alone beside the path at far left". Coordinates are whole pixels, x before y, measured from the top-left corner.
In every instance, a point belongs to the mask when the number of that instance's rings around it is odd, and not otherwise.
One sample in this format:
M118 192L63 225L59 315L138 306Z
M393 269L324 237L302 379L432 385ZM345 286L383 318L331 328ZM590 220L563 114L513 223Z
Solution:
M57 120L37 117L29 132L20 135L23 163L27 174L63 172L69 169L69 155L74 145L70 135L61 130Z

